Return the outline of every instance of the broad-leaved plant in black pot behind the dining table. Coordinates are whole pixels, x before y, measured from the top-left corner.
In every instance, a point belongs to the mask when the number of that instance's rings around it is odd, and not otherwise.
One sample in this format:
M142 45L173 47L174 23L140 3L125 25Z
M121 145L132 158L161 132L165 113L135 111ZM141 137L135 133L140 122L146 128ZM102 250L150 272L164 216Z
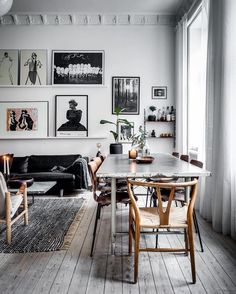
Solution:
M119 142L119 123L126 124L130 126L131 128L133 127L133 125L127 119L120 118L120 115L122 114L124 110L125 108L120 108L120 107L115 108L115 115L116 115L115 122L104 120L104 119L100 120L100 124L102 125L111 124L115 126L115 130L110 130L110 133L112 133L115 140L115 143L110 144L110 154L122 154L123 152L122 144Z

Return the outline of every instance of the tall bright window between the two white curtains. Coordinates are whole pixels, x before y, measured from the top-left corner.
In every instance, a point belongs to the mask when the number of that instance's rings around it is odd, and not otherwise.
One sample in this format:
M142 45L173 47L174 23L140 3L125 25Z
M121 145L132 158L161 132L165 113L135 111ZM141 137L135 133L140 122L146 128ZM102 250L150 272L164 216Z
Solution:
M205 145L205 75L207 25L201 7L187 27L187 148L192 158L204 160Z

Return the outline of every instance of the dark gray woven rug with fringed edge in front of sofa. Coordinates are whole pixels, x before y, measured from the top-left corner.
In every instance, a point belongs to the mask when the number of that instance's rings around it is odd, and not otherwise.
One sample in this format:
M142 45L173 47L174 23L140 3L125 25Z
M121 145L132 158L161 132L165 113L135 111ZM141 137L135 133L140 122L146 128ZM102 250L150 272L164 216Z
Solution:
M11 245L6 244L6 231L1 232L0 252L68 249L85 209L83 202L82 198L35 199L29 207L29 225L23 218L13 224Z

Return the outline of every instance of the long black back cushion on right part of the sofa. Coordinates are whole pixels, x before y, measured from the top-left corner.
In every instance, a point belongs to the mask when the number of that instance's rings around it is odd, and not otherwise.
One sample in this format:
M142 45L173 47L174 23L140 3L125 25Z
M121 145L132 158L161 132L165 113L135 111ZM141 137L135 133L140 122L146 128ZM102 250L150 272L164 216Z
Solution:
M28 172L47 172L55 166L70 166L80 154L70 155L31 155L29 157Z

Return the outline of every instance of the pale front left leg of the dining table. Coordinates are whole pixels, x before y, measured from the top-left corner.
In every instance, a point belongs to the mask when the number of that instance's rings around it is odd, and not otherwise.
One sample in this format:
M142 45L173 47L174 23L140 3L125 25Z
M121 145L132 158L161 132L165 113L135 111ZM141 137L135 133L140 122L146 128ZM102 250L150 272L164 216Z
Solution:
M111 179L111 254L115 254L116 242L116 178Z

